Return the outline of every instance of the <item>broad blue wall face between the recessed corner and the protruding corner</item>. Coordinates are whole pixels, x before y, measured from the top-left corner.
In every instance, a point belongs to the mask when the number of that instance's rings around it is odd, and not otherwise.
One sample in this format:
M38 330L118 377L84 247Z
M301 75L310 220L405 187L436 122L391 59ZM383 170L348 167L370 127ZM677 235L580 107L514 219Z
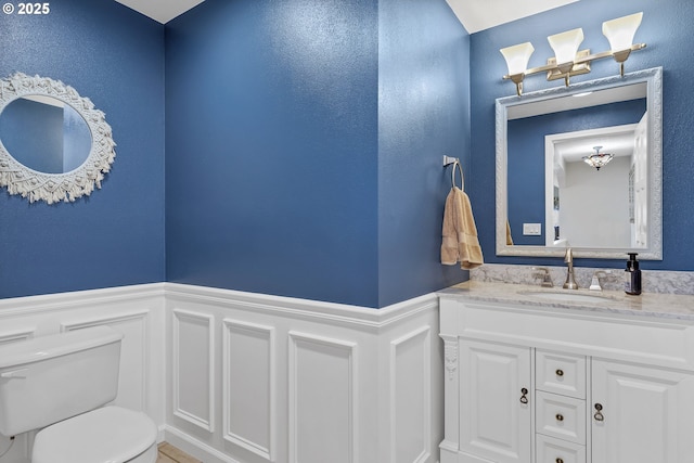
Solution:
M168 23L169 281L375 304L376 21L207 0Z

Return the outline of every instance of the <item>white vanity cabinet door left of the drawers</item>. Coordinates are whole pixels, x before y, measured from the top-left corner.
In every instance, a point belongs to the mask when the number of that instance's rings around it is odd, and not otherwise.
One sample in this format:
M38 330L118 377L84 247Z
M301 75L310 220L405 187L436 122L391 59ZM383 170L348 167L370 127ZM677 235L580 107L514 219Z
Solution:
M530 349L461 339L460 350L461 450L497 463L528 463Z

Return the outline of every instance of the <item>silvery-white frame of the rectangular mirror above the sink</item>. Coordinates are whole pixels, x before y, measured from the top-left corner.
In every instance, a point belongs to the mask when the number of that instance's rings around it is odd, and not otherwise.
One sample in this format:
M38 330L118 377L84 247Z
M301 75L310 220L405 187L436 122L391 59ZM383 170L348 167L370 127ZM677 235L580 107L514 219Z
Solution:
M507 139L506 126L509 111L529 103L555 104L562 107L561 102L571 100L573 95L587 92L600 92L606 89L619 89L634 83L646 85L646 110L650 124L648 149L647 149L647 207L648 207L648 231L647 246L625 247L625 248L599 248L599 247L576 247L574 255L577 257L617 259L622 258L625 253L639 253L639 259L660 260L663 259L663 68L639 70L626 74L624 77L613 76L602 79L579 82L570 87L557 87L541 90L519 97L500 98L496 102L496 125L497 125L497 255L498 256L530 256L530 257L563 257L563 247L536 246L536 245L510 245L506 244L507 230ZM568 99L568 100L567 100ZM619 100L617 100L619 101ZM553 112L557 111L553 108ZM580 106L578 106L580 107ZM538 154L544 156L544 153Z

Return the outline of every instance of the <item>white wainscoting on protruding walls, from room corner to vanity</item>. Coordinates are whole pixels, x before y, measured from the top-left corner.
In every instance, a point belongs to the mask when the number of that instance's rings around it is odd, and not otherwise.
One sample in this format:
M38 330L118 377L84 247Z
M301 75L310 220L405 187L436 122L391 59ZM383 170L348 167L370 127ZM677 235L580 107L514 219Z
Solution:
M438 461L436 295L375 310L165 287L167 441L206 463ZM182 403L210 422L177 413Z

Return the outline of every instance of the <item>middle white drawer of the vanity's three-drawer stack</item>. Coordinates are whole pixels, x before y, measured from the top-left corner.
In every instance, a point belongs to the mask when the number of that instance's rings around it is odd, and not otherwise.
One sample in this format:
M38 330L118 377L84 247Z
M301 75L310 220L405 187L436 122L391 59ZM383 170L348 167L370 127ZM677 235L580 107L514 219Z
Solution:
M586 401L536 391L536 430L545 436L586 443Z

